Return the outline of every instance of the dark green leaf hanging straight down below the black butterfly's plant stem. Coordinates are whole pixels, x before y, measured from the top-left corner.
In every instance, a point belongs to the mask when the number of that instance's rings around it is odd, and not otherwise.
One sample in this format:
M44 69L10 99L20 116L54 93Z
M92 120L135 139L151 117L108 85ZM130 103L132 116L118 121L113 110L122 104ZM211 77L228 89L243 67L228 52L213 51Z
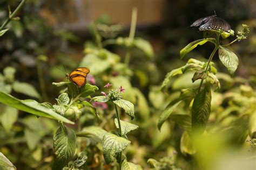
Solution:
M211 87L210 84L206 84L205 88L194 97L192 105L192 130L204 132L211 112L211 100Z

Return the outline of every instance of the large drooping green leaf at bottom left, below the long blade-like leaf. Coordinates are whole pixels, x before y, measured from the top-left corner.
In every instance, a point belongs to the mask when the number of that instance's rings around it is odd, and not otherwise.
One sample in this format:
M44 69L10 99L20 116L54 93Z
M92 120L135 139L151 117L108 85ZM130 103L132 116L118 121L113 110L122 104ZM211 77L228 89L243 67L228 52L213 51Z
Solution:
M56 159L52 169L62 169L75 154L76 133L61 123L53 136L53 147Z

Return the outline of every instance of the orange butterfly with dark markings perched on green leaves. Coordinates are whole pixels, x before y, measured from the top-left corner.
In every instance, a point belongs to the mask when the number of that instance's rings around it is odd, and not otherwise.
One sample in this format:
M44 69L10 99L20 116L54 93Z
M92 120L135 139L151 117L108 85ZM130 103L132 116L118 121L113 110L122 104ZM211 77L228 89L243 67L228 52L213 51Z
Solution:
M90 73L90 69L87 67L78 67L72 70L70 74L66 73L66 78L77 84L77 86L82 87L86 84L87 74Z

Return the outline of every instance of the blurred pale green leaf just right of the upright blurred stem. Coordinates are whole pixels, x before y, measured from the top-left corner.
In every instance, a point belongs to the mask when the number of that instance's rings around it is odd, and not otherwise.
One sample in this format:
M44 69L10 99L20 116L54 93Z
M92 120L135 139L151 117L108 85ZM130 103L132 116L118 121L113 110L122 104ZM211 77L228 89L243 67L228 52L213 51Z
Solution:
M135 38L133 40L133 45L136 46L137 48L141 49L147 56L152 58L154 52L153 52L153 48L149 41L144 40L142 38Z

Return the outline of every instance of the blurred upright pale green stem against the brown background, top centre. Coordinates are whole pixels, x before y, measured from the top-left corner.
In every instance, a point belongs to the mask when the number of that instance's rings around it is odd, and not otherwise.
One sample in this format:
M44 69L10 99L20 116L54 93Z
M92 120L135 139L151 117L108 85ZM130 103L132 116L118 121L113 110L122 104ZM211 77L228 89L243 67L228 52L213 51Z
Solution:
M128 38L128 46L131 45L134 36L135 36L135 32L136 32L136 24L137 24L137 8L133 8L132 9L132 19L131 19L131 28L130 28L130 34L129 34L129 38ZM130 47L128 47L126 54L125 54L125 63L126 65L129 65L130 62L130 57L131 57L131 53L130 53Z

